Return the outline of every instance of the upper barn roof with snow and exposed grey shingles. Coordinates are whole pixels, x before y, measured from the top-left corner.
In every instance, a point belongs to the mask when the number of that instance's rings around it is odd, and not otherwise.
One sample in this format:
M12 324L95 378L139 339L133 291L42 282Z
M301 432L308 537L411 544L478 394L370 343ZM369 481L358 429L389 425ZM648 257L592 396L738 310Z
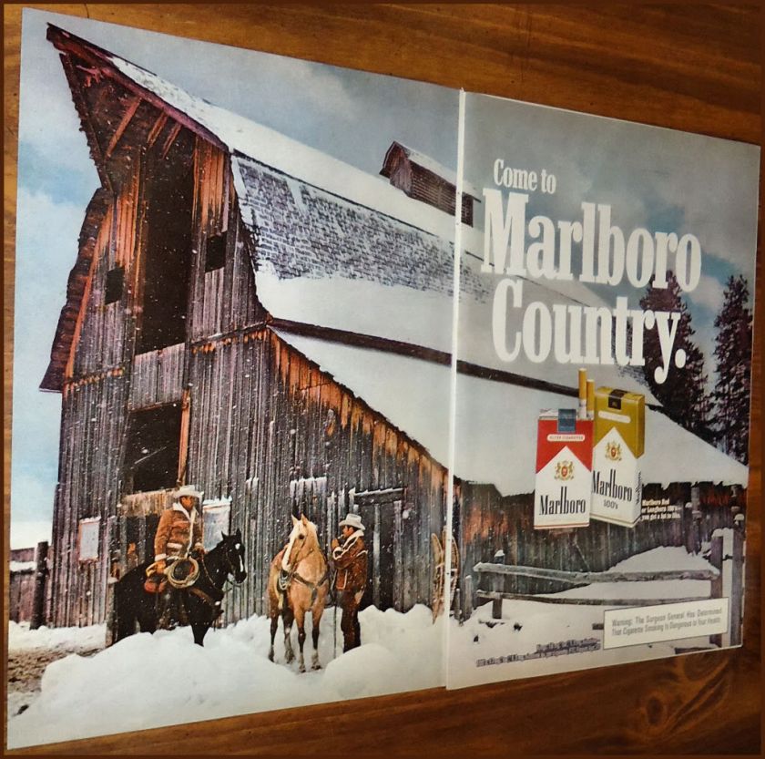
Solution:
M190 95L129 61L91 46L105 64L230 151L242 221L255 241L261 303L278 319L451 351L454 219L384 179ZM407 148L412 151L412 149ZM416 151L413 151L416 154ZM418 159L423 159L416 154ZM426 157L425 157L426 158ZM434 166L443 170L444 167ZM483 232L463 227L463 313L485 323L461 342L460 359L519 378L574 388L576 371L497 358L491 344L491 282L477 271ZM299 281L298 281L299 280ZM604 305L578 282L526 282L527 300ZM515 325L511 314L511 329ZM599 384L647 395L639 378L601 367Z

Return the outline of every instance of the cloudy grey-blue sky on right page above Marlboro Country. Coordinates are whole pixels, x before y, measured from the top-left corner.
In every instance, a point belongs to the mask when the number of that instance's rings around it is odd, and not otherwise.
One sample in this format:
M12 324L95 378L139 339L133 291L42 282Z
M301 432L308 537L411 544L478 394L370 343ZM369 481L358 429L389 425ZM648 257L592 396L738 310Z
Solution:
M743 274L753 297L759 147L468 94L464 149L465 170L479 187L495 187L498 158L556 175L554 195L530 193L528 218L581 221L582 202L606 203L625 238L637 227L696 235L701 279L686 302L713 384L714 319L729 276ZM626 277L620 287L594 289L612 304L627 295L632 308L645 292Z

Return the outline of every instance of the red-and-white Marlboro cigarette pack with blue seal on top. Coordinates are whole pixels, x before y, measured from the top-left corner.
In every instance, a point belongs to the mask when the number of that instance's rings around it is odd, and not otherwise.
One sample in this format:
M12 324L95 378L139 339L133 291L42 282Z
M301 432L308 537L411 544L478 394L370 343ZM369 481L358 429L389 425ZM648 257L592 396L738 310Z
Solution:
M536 436L534 527L589 524L592 500L592 428L576 409L539 415Z

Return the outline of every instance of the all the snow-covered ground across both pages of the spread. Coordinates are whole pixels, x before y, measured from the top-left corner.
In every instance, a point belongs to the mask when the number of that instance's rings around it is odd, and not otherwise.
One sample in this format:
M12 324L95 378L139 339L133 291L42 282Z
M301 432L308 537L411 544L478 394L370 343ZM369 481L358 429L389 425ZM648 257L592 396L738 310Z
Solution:
M723 551L729 554L732 531L722 533ZM611 571L709 566L706 559L690 555L683 548L659 548L626 559ZM725 596L730 593L729 566L729 561L724 562ZM640 598L709 597L709 582L597 583L554 595L634 598L639 605ZM502 624L494 624L491 619L491 603L476 609L462 626L450 620L449 684L469 685L635 662L671 656L677 647L709 646L706 636L603 650L603 631L593 629L593 625L602 624L604 610L609 608L505 600ZM187 628L134 635L89 656L71 653L47 665L39 694L32 700L32 694L26 693L26 711L10 716L8 745L46 744L444 684L444 619L433 624L430 609L415 606L405 614L374 607L362 611L363 645L346 654L341 653L338 614L336 656L333 616L333 610L327 609L321 621L323 669L319 672L301 674L297 662L284 663L281 626L276 638L276 662L269 662L270 622L257 616L209 631L204 648L194 645ZM59 656L66 651L92 652L103 645L105 632L103 625L29 631L28 626L11 622L9 651L38 657L54 650ZM292 640L297 650L295 630ZM566 641L589 641L585 645L594 650L475 666L479 660L532 653L538 645L564 643L565 648ZM724 636L723 645L728 644L729 638ZM310 666L310 633L305 651ZM12 710L11 705L9 701L9 714L13 715L17 709Z

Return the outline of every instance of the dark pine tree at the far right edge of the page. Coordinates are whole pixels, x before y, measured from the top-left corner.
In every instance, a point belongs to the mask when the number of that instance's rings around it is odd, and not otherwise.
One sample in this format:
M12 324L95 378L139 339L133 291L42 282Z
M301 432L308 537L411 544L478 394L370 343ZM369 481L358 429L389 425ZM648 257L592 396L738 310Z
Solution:
M715 319L714 427L717 445L743 464L749 461L751 311L747 303L746 279L731 275Z

